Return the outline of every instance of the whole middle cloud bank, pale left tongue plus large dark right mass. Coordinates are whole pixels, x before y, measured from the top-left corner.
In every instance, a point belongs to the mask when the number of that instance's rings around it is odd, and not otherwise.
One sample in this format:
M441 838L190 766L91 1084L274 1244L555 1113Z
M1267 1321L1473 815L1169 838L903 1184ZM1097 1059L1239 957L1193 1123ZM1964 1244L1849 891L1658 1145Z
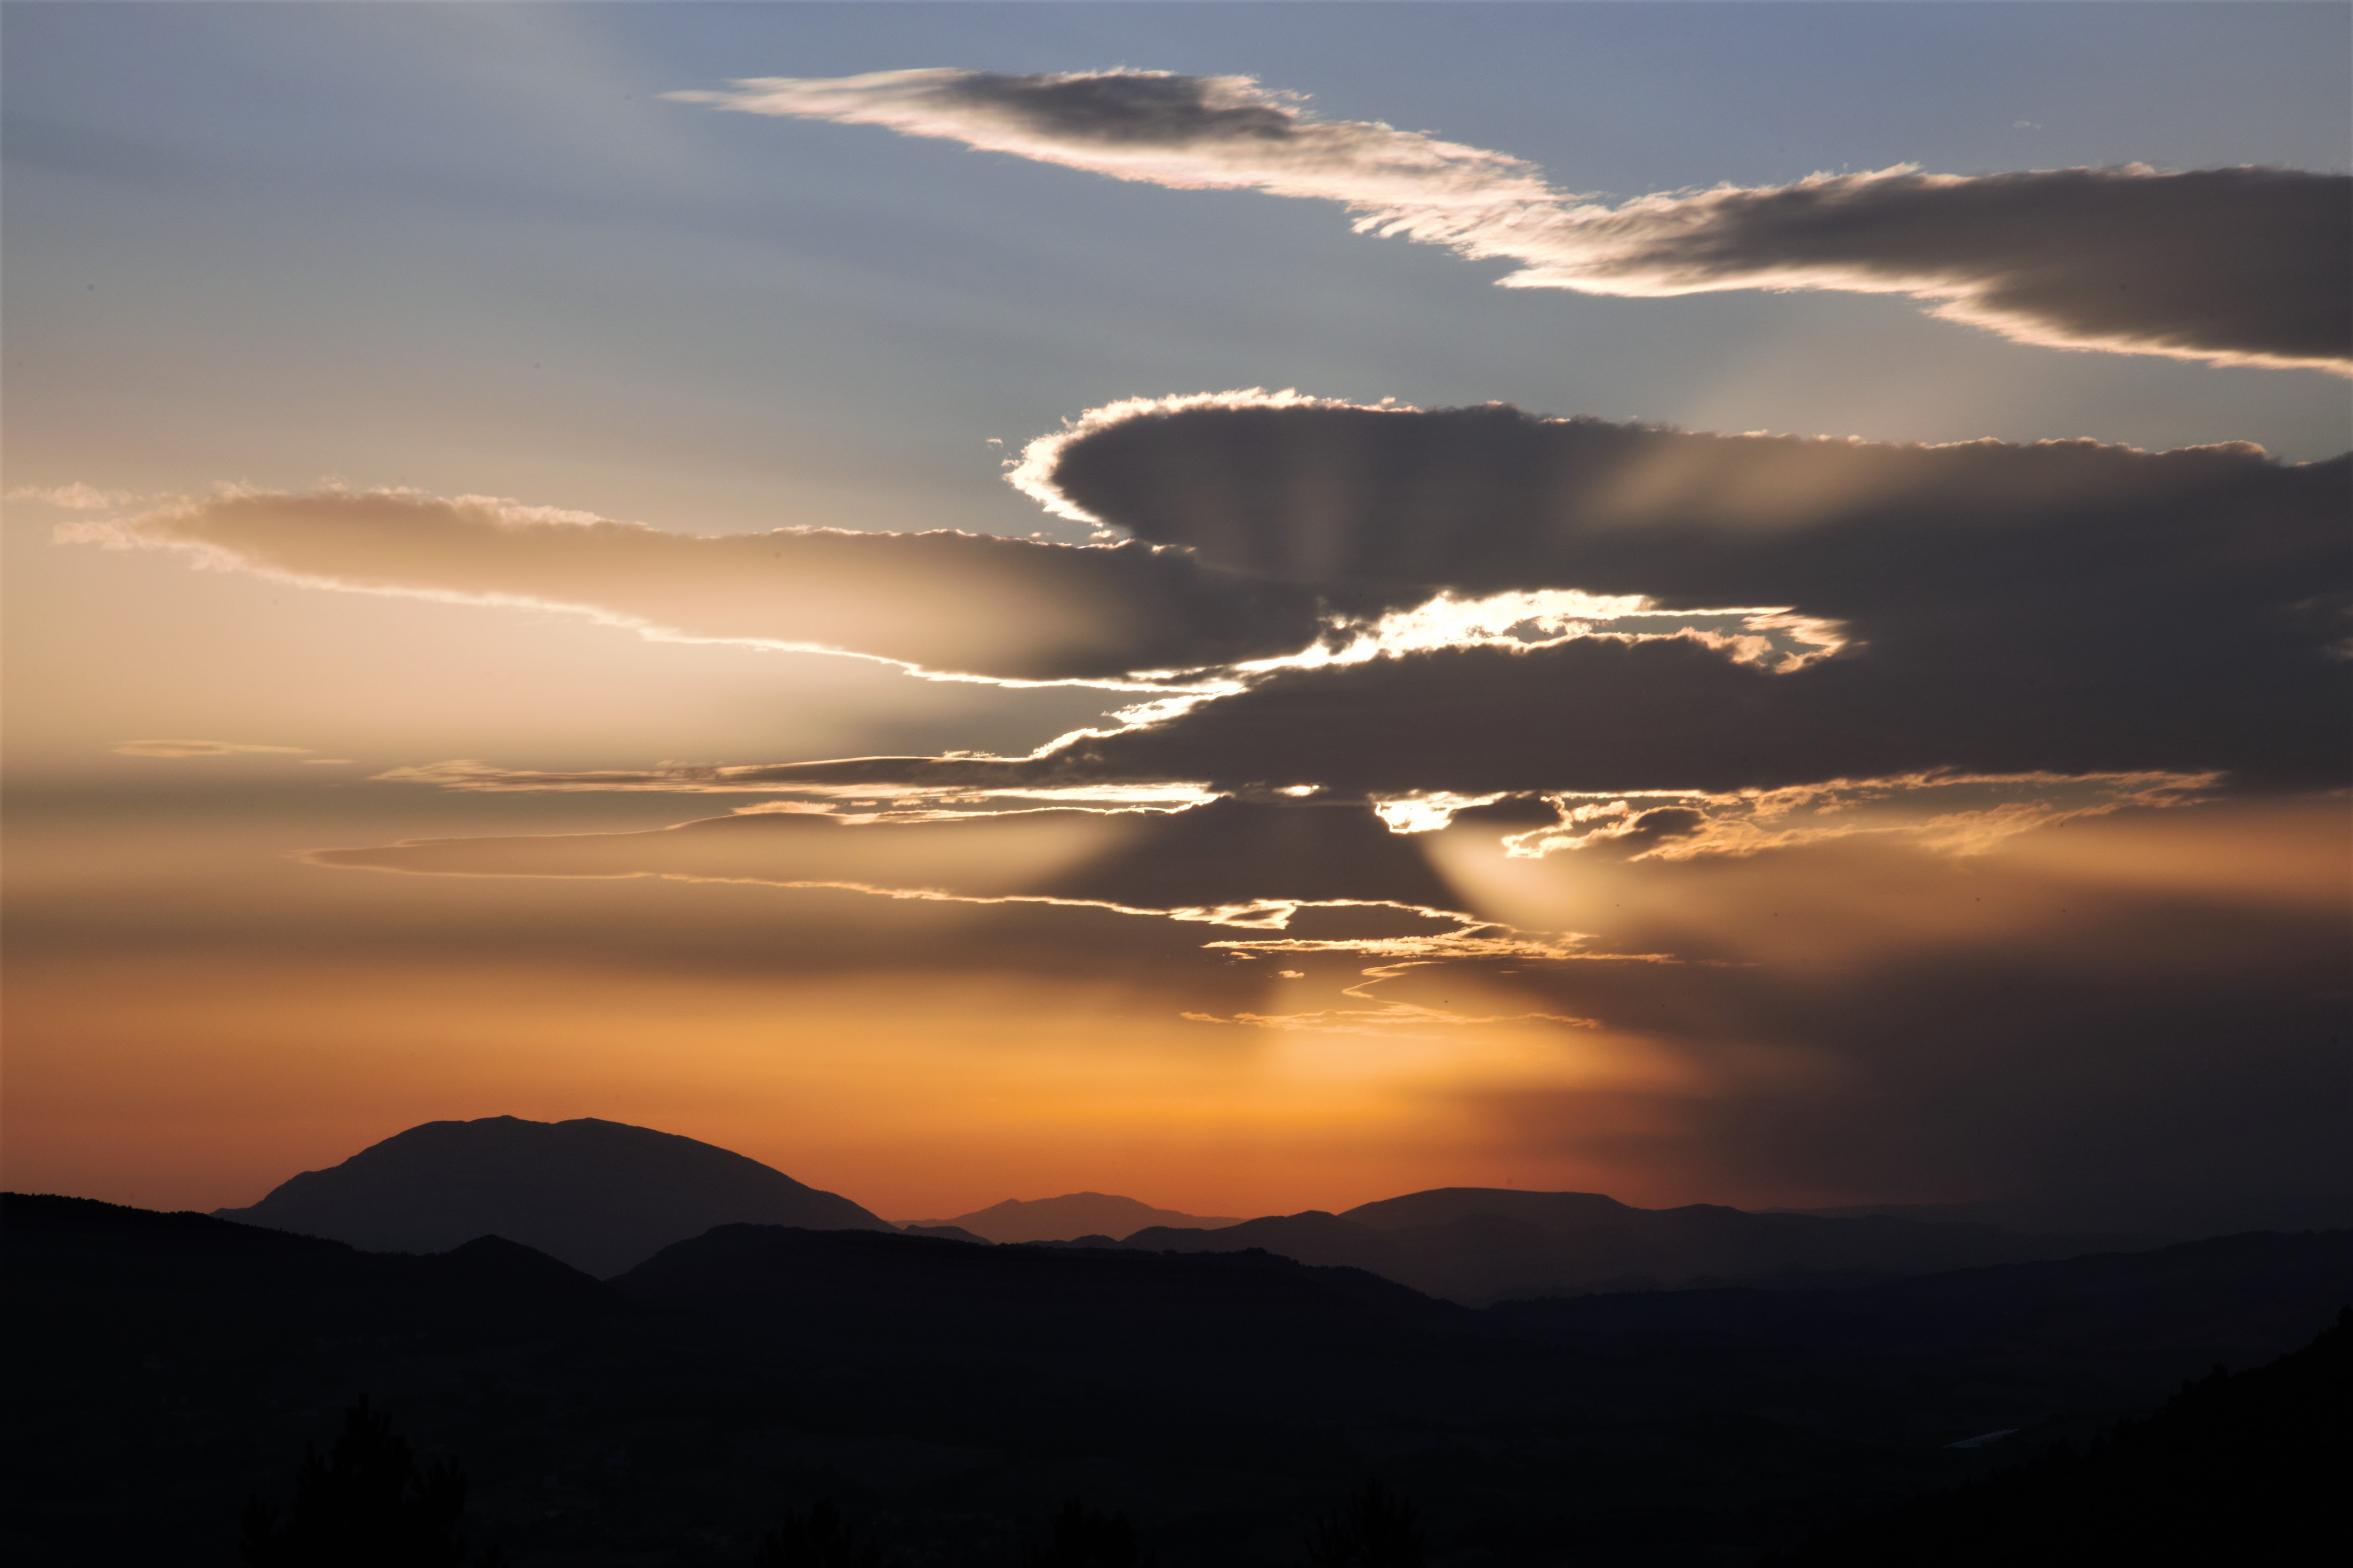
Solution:
M2346 773L2348 475L2242 444L1920 447L1249 390L1113 404L1021 454L1016 487L1134 534L1115 545L685 536L395 491L233 491L64 536L1176 691L1014 759L412 773L461 788L1480 799L1958 771L2304 790Z

